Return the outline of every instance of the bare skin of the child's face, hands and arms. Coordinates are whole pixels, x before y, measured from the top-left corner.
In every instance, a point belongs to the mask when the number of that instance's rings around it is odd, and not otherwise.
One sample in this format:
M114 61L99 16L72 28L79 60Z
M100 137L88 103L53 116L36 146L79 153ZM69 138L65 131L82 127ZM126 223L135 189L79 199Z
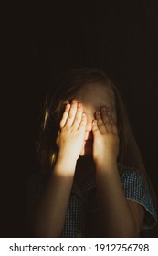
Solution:
M116 123L113 93L101 84L85 86L67 104L57 138L58 160L43 200L34 211L36 236L60 236L74 176L79 173L84 183L92 160L96 166L100 237L139 237L143 208L128 201L121 187ZM79 161L82 168L77 168Z

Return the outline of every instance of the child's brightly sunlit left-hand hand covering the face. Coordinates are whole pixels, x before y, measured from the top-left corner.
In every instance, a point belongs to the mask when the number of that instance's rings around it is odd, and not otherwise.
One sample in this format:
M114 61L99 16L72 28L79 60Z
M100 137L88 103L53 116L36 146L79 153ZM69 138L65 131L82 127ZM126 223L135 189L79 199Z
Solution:
M56 141L59 148L58 155L74 161L78 160L84 144L86 123L86 114L83 113L81 103L73 100L71 104L66 105Z

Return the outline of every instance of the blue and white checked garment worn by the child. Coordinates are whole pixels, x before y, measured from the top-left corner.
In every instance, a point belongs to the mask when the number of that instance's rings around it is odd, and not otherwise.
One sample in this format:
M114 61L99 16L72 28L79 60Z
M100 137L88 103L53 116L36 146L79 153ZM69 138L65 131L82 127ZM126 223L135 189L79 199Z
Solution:
M120 168L121 165L118 165ZM157 222L153 198L147 182L140 173L132 167L123 167L121 185L125 197L144 208L142 230L152 229ZM98 230L98 201L95 172L80 190L74 182L68 202L65 225L61 237L100 237ZM43 176L34 174L28 180L28 203L35 197L42 197Z

